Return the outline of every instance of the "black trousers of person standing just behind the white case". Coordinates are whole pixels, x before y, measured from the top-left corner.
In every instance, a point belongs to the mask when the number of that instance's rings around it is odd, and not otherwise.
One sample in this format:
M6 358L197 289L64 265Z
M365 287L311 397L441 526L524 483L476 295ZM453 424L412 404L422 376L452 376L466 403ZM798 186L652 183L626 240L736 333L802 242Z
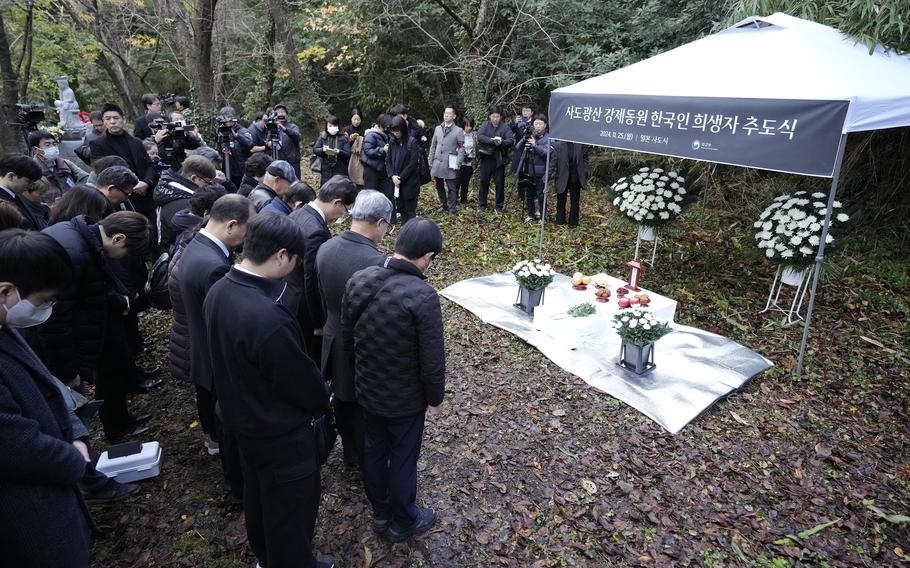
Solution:
M104 348L95 379L95 398L104 401L98 416L108 438L119 438L129 426L126 395L134 364L125 324L122 315L108 315Z

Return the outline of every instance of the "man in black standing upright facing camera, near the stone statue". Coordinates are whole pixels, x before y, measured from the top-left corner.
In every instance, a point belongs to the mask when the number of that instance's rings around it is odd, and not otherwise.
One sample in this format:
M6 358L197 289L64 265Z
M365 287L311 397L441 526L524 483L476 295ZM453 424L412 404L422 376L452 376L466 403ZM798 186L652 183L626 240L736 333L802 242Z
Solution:
M155 215L155 202L152 200L152 190L158 180L155 165L145 152L142 141L124 130L123 110L120 107L107 103L101 107L101 116L107 131L89 144L92 161L105 156L120 156L139 178L139 183L130 195L130 202L133 204L133 210L142 213L149 220L155 234L153 242L156 246L152 250L154 253L157 251L158 242L158 221Z

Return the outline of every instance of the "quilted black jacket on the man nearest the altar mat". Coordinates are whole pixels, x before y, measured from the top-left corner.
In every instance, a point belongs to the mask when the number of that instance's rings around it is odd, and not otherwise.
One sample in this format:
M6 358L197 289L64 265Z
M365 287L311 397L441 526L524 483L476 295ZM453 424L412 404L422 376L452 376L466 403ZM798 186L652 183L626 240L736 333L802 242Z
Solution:
M412 263L389 257L345 287L341 332L354 353L357 402L370 414L413 416L442 403L442 312L424 280Z

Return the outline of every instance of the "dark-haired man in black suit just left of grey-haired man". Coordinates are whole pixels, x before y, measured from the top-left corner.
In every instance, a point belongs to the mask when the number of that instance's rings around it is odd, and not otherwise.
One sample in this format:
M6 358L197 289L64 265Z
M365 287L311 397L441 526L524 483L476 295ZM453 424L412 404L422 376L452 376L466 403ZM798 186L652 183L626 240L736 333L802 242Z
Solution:
M354 182L345 176L336 175L319 189L314 201L290 215L291 220L303 231L306 252L288 278L289 290L283 303L291 313L297 314L307 343L307 352L313 361L322 360L322 327L325 325L316 254L319 247L332 238L329 224L348 214L356 196L357 186Z

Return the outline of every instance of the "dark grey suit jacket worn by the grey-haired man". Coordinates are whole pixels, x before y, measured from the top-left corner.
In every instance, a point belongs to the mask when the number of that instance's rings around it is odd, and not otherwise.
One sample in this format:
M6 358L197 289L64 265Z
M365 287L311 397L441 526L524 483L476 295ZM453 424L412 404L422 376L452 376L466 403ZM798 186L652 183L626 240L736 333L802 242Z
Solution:
M345 231L320 247L316 254L319 290L325 305L325 327L322 330L322 375L332 381L332 391L339 400L353 402L354 354L346 351L341 340L341 300L344 287L358 270L379 264L385 255L367 237Z

